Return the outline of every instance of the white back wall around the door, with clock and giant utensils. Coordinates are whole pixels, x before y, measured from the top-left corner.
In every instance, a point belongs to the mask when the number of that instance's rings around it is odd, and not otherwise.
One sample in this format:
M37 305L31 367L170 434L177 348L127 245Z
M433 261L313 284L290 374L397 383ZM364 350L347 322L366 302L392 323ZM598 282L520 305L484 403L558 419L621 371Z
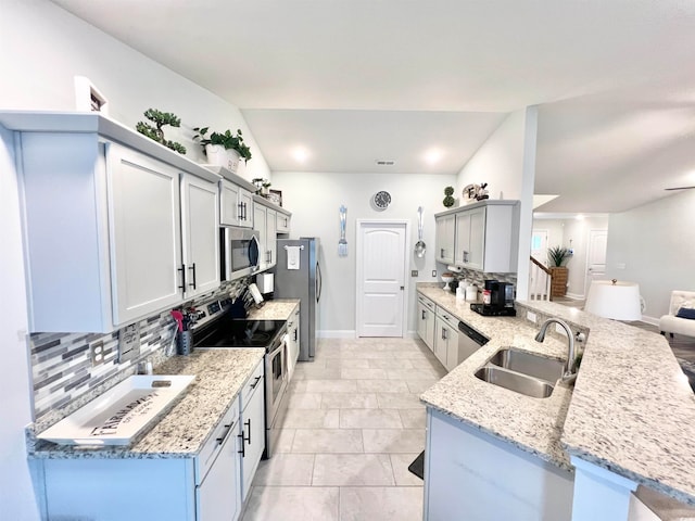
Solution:
M317 329L324 336L351 336L355 332L355 220L409 219L410 245L417 242L417 208L422 206L427 252L418 258L408 252L410 270L418 277L409 279L408 331L415 331L415 282L439 282L432 278L434 262L434 214L446 208L442 205L444 188L453 186L455 176L400 174L311 174L279 173L273 176L273 188L282 191L282 205L292 215L292 238L319 237L321 240L321 269L324 296ZM372 209L371 195L387 190L392 203L384 212ZM338 256L340 237L339 212L348 207L348 256ZM441 274L440 274L441 275Z

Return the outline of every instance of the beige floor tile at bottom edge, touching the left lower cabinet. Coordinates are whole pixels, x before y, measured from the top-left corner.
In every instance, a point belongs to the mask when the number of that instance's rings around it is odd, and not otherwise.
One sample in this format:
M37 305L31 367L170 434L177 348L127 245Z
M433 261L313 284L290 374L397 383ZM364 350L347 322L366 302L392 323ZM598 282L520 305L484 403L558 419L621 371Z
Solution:
M254 486L242 521L338 521L339 488Z

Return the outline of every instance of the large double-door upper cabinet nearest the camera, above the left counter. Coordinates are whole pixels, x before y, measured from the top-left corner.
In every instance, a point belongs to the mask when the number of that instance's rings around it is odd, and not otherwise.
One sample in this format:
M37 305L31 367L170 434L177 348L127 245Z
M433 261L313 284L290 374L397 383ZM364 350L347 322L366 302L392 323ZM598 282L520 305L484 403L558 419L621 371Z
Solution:
M219 176L97 114L0 123L17 143L31 332L113 332L174 307L198 293L192 263L201 291L219 283Z

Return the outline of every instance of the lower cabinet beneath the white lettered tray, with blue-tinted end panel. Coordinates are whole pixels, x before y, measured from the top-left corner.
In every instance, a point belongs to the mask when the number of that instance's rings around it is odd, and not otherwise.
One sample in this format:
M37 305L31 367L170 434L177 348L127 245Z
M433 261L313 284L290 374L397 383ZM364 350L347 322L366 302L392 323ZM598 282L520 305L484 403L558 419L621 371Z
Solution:
M31 460L43 475L42 519L236 521L265 449L264 363L198 454Z

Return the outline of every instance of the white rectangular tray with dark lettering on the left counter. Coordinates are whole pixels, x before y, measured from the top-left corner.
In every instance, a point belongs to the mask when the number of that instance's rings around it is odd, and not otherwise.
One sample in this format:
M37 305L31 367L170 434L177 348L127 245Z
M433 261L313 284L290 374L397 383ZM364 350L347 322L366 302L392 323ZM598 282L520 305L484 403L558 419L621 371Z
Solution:
M61 445L129 445L194 376L135 374L37 435Z

